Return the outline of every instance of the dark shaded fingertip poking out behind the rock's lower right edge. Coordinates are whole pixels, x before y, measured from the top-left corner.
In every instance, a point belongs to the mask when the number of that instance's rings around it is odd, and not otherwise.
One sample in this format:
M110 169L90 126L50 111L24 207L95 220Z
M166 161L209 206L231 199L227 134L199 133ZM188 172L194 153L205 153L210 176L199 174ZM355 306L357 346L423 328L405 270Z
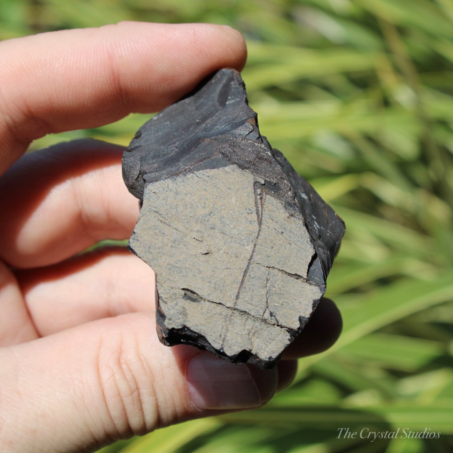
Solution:
M283 359L292 360L326 351L340 336L340 311L332 300L323 297L304 330L286 348Z

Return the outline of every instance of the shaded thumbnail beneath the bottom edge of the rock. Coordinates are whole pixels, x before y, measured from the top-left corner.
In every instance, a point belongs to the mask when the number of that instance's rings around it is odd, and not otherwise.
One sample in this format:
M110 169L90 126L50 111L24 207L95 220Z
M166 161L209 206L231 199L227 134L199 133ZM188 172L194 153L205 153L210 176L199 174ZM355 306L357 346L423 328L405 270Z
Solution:
M278 380L276 373L256 368L252 374L245 363L233 365L211 352L202 352L189 361L186 379L189 395L199 409L246 409L270 399Z

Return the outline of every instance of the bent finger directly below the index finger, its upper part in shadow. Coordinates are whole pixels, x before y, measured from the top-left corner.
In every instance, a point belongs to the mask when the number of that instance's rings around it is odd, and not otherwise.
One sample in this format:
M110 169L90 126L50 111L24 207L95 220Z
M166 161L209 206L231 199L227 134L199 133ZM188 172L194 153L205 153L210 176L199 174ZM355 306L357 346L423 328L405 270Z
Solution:
M121 177L123 148L75 140L26 154L1 178L0 255L15 268L64 260L129 238L138 200Z

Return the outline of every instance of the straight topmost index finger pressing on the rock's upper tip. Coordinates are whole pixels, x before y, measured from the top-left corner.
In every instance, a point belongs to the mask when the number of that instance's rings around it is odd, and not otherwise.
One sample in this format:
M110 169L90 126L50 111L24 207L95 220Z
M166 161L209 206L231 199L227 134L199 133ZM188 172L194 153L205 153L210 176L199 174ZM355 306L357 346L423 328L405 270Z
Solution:
M3 41L0 174L33 139L160 110L245 59L241 34L213 24L121 22Z

